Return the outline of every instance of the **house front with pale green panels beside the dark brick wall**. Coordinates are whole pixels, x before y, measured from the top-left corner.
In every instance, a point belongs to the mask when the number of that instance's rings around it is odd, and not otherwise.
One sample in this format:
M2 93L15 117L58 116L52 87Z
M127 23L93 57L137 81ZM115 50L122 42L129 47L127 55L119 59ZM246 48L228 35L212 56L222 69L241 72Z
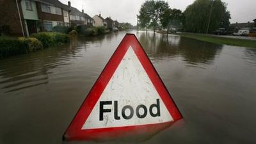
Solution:
M52 31L54 26L70 26L70 8L58 0L21 0L26 35Z

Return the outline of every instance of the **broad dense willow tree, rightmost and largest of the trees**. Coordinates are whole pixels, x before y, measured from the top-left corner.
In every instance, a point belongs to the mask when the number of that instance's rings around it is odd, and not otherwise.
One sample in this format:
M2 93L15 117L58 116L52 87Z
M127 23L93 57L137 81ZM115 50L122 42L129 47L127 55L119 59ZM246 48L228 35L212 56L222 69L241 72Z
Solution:
M205 33L208 24L210 32L220 28L223 17L227 14L226 6L221 0L196 0L184 11L184 30Z

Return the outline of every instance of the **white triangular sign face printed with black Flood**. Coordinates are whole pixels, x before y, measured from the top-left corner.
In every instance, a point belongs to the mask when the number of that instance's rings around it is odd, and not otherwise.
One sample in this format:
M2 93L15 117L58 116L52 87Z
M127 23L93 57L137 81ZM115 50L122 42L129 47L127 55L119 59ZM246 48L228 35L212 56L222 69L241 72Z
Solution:
M147 72L129 47L81 129L172 121Z

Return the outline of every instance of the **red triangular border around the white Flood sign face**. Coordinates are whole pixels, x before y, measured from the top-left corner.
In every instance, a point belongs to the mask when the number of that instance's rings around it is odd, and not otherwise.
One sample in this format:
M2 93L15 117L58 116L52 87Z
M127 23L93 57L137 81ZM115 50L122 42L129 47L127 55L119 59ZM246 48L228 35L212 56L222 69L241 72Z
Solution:
M179 109L177 109L177 106L173 102L170 93L167 91L166 87L163 84L163 81L157 74L156 69L154 68L147 54L141 47L140 42L134 34L126 34L122 42L118 45L113 56L111 56L104 70L102 70L100 76L93 85L92 90L88 93L86 99L84 99L84 102L79 108L79 111L77 111L76 116L65 131L65 134L63 135L63 140L93 140L100 137L109 136L109 133L111 133L111 135L113 136L116 136L116 134L119 134L120 132L129 132L136 129L145 129L145 131L150 131L150 129L156 129L157 126L163 127L164 125L170 125L173 123L166 122L161 124L110 127L103 129L81 129L130 46L140 60L141 65L143 65L143 68L145 69L148 77L154 84L166 108L172 115L174 120L173 122L182 118Z

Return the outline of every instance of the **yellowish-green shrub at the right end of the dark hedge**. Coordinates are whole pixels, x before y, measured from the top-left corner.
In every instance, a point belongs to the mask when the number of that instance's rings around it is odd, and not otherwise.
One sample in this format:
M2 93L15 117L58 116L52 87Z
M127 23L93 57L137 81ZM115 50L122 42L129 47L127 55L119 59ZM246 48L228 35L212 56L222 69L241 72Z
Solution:
M39 49L43 49L43 45L42 42L40 42L39 40L37 40L36 38L24 38L21 37L19 38L19 40L21 42L24 42L28 45L28 51L37 51Z

